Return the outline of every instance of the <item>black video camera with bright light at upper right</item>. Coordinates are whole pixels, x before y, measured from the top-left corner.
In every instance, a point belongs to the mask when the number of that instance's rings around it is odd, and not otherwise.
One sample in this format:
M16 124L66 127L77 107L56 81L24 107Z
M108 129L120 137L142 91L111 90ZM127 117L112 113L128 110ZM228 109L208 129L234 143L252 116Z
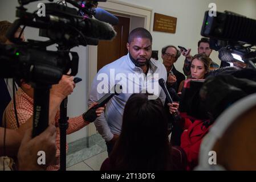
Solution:
M213 16L205 12L201 35L210 38L210 48L219 51L223 62L236 60L255 68L256 20L225 11ZM224 63L222 63L224 64Z

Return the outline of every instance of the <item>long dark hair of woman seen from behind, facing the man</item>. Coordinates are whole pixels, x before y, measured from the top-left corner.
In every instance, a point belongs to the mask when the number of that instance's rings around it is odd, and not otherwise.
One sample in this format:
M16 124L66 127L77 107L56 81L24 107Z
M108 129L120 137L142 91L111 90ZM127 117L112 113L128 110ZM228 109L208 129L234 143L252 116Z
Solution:
M124 108L119 140L110 155L116 170L170 169L168 126L161 100L132 94Z

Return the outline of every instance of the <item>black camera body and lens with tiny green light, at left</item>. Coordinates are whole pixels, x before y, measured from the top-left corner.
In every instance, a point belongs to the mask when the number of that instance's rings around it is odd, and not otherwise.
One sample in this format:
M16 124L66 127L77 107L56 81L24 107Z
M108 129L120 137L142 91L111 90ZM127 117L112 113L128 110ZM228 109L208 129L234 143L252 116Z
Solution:
M71 56L71 57L70 57ZM0 44L0 77L24 78L34 83L58 84L63 74L78 73L78 53L46 51L28 46Z

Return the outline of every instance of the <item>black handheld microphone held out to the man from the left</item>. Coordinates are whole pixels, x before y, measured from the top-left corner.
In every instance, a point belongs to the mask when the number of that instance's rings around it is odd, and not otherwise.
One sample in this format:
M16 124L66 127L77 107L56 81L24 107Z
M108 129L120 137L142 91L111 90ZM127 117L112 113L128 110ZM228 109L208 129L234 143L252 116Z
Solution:
M97 118L97 114L96 114L96 110L99 107L103 107L105 104L107 104L107 102L113 97L113 96L118 96L121 92L122 92L122 86L119 84L116 84L115 86L113 86L112 90L115 90L114 93L107 93L105 94L105 96L103 96L102 98L100 98L99 101L97 101L97 105L94 107L91 107L91 109L89 109L86 113L83 114L83 119L84 121L88 121L88 122L94 122L95 119Z

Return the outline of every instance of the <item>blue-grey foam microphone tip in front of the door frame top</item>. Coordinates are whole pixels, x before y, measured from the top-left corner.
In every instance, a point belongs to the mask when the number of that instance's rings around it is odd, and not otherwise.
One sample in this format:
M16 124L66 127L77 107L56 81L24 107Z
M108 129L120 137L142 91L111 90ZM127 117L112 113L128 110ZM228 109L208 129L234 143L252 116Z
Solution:
M100 21L107 22L113 25L116 25L119 23L119 20L115 15L112 15L111 13L108 13L108 11L103 10L99 7L95 9L94 17Z

